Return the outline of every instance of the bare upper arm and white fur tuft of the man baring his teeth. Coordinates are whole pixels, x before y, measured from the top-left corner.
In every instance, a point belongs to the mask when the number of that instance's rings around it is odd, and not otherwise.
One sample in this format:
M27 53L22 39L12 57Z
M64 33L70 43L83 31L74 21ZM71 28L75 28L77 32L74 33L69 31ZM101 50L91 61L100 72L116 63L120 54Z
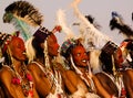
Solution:
M66 70L63 80L72 95L84 96L88 92L84 81L73 70Z

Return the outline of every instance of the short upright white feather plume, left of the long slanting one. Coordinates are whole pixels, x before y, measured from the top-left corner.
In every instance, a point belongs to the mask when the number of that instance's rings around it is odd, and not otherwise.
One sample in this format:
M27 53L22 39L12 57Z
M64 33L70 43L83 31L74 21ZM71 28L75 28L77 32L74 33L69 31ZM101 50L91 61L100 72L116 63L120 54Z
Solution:
M59 25L62 26L62 31L66 34L66 39L71 39L74 36L73 31L70 29L70 26L66 25L65 20L65 12L64 10L59 9L57 12L57 21Z

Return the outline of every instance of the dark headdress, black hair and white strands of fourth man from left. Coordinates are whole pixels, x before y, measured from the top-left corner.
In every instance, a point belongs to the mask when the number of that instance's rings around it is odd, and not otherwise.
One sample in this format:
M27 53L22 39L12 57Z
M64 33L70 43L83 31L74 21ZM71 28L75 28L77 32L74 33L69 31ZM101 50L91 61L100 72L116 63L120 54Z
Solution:
M119 98L126 98L126 91L123 83L123 76L120 72L121 65L116 64L115 61L121 61L121 58L116 59L114 55L119 54L117 50L121 51L121 48L113 42L108 42L101 52L100 59L102 62L102 68L103 72L101 74L104 74L108 76L116 86L119 90ZM120 56L119 56L120 57ZM111 84L110 84L111 85ZM112 86L113 87L113 86ZM114 88L115 89L115 88ZM116 94L115 94L116 96Z

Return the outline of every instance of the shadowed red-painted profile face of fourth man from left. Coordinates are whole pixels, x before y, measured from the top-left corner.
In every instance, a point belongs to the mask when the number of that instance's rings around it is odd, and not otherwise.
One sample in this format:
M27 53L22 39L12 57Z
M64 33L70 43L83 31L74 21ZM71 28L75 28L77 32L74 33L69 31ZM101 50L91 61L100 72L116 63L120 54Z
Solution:
M119 65L119 67L121 67L121 65L123 63L123 56L122 56L121 48L117 48L117 51L115 53L115 62L116 62L116 65Z

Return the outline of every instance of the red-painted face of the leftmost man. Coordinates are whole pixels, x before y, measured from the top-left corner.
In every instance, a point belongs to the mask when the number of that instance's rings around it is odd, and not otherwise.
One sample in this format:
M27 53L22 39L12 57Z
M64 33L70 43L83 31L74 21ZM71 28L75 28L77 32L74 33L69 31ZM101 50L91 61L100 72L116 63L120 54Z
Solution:
M23 54L25 53L24 42L20 37L13 36L9 47L13 58L25 61L27 56Z

